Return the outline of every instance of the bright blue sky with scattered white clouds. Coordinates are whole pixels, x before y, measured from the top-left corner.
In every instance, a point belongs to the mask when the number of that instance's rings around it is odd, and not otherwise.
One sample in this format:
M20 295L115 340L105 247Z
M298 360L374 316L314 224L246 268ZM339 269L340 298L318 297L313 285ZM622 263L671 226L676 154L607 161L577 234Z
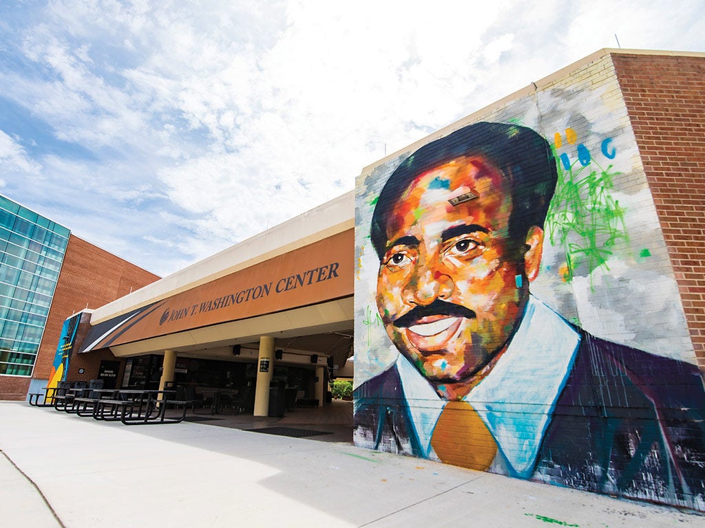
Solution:
M0 194L166 276L594 51L705 51L702 27L701 0L1 0Z

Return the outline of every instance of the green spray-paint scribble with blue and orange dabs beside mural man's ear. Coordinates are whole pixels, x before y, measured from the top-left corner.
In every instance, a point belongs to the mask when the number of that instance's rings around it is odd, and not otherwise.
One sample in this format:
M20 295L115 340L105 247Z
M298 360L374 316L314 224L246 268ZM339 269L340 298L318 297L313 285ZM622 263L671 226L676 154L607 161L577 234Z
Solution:
M575 132L566 130L569 144L575 143ZM601 152L608 159L616 156L611 139L601 143ZM577 159L571 161L568 153L558 156L562 146L556 133L553 145L558 163L558 184L546 216L546 231L551 244L565 248L565 266L559 270L565 282L577 272L586 275L597 268L609 270L608 258L614 247L628 241L625 209L614 199L613 180L620 172L613 165L603 168L591 156L584 144L575 147Z

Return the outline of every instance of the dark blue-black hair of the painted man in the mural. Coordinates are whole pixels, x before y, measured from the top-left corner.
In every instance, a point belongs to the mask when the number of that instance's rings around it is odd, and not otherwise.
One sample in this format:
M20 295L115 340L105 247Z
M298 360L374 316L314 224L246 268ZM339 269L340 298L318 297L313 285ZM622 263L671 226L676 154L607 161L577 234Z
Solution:
M509 180L511 239L523 241L530 227L544 227L558 180L551 146L527 127L477 122L422 146L392 172L372 213L370 237L380 260L386 251L388 216L412 180L462 156L483 156Z

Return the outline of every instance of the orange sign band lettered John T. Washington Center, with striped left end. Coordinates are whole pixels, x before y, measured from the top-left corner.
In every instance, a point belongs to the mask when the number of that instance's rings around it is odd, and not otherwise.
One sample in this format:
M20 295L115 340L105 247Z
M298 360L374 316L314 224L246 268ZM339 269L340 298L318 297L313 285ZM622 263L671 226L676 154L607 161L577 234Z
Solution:
M348 230L92 327L82 351L353 295Z

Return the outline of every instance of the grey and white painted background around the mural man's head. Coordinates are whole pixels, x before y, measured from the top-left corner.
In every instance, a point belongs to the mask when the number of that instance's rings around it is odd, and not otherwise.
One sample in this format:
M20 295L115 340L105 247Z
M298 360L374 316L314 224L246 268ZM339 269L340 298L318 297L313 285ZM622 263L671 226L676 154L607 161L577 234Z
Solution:
M612 184L611 189L606 189L607 197L618 204L618 218L596 237L596 244L603 246L604 251L599 265L579 262L566 279L567 244L580 246L581 237L569 232L565 243L556 236L553 244L546 237L541 272L532 283L532 293L592 334L695 363L654 201L610 59L603 58L580 70L580 75L563 77L501 108L475 113L454 125L453 130L481 120L514 122L541 132L551 144L556 144L557 156L568 156L574 173L583 168L580 156L585 161L585 152L589 152L590 163L580 177L594 170L599 177L604 170ZM566 137L568 129L575 132L575 137ZM450 132L446 130L443 135ZM556 132L560 134L560 147ZM439 136L429 141L436 137ZM580 151L578 145L582 145ZM379 260L369 241L369 222L374 198L386 177L415 148L391 156L357 180L356 386L383 371L398 355L376 312ZM559 187L557 197L561 191ZM554 197L549 216L562 206L557 201ZM599 208L601 204L592 206Z

